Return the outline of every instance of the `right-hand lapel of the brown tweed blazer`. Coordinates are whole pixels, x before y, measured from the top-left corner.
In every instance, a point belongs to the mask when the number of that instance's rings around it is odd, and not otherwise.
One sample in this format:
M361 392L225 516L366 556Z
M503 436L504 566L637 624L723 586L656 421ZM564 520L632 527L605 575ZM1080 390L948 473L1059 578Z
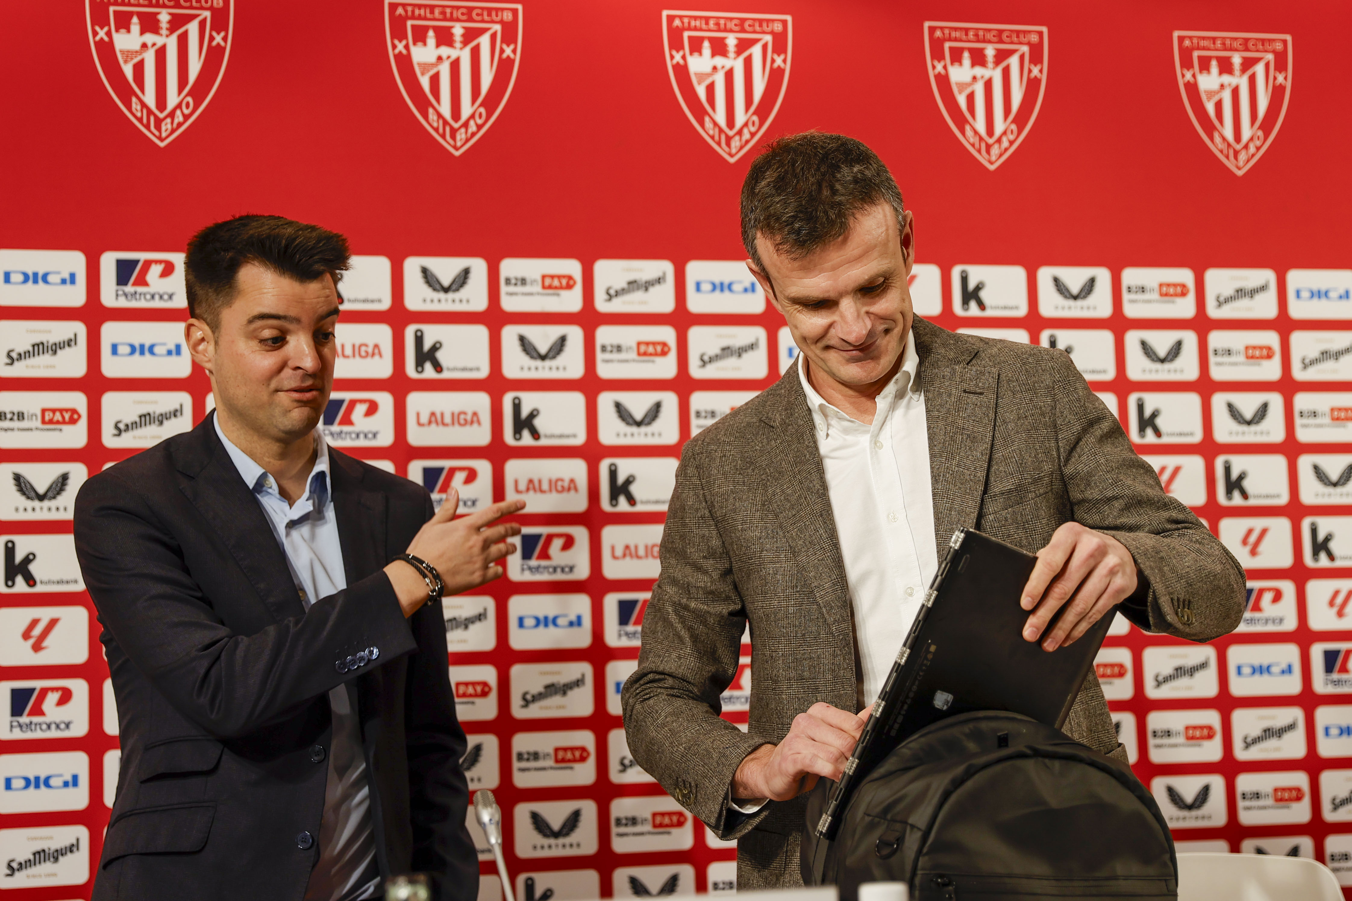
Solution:
M923 319L914 324L929 432L930 490L938 559L959 527L972 528L982 508L995 430L999 370L975 362L980 346Z

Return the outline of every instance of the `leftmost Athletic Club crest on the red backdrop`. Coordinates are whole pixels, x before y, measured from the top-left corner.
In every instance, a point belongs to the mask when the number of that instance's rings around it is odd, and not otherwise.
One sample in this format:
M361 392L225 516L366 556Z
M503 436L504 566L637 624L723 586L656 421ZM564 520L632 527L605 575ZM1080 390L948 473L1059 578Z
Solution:
M230 57L234 0L193 7L85 0L99 76L127 118L164 147L216 92Z

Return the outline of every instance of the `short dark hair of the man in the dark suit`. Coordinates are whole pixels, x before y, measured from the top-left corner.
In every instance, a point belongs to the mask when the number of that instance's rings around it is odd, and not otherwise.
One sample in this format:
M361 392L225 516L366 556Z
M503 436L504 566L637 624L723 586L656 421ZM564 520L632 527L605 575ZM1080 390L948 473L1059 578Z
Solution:
M337 286L350 259L347 239L319 226L285 216L235 216L218 222L188 242L184 259L188 315L212 331L219 330L220 311L235 299L235 276L245 263L301 282L327 273Z

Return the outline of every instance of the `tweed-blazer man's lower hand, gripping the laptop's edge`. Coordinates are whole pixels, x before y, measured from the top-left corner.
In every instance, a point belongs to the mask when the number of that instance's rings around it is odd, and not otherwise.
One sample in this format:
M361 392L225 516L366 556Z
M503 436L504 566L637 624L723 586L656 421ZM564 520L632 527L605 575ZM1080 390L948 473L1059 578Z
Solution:
M783 742L763 744L742 759L733 797L788 801L810 792L823 775L840 781L872 709L871 704L856 715L823 701L814 704L794 717Z

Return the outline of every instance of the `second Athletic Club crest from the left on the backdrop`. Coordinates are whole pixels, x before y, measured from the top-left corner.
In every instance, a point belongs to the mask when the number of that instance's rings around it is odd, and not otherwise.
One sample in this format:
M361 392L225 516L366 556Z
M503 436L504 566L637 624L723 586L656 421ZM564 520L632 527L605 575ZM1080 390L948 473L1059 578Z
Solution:
M516 84L521 4L385 0L385 43L408 108L458 157Z

